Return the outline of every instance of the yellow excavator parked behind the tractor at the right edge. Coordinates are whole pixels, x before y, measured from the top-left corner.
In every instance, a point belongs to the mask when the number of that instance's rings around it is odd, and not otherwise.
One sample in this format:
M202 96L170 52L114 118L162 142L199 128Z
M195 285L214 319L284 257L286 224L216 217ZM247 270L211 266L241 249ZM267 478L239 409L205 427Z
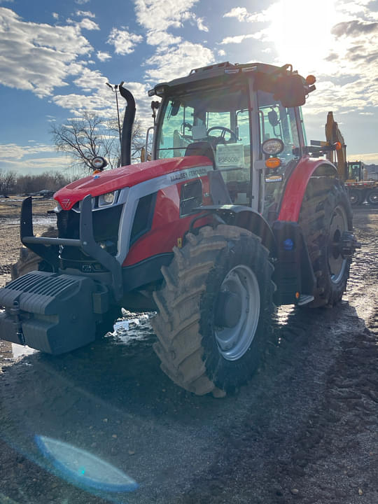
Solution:
M362 161L346 161L346 145L342 132L333 118L333 113L328 112L325 123L325 145L335 145L334 151L326 153L330 162L335 163L339 177L348 188L349 199L353 206L367 202L378 205L378 182L367 180L367 171Z

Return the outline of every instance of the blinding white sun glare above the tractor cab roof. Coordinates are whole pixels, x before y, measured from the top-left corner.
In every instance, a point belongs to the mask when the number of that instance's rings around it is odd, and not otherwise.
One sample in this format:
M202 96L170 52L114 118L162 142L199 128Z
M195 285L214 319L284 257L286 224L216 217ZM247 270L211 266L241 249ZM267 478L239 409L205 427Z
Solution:
M332 26L337 23L332 0L281 0L269 8L269 38L279 62L292 63L300 73L319 71L332 49ZM322 68L323 69L323 68Z

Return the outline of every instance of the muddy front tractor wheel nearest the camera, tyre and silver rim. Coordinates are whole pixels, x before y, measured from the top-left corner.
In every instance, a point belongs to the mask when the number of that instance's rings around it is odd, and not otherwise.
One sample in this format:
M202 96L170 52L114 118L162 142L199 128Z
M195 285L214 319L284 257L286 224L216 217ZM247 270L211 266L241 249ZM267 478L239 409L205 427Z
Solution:
M179 386L225 395L258 366L274 311L269 251L248 230L219 225L174 248L151 321L162 370Z

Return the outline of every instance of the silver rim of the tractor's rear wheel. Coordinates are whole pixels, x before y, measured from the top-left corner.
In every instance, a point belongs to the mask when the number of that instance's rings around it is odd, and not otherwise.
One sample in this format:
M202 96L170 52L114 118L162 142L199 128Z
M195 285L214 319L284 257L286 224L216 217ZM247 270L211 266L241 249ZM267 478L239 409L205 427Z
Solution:
M344 276L346 259L340 251L342 234L348 230L348 220L343 207L336 207L332 213L330 223L330 235L328 246L328 266L330 268L330 279L333 283L338 283Z

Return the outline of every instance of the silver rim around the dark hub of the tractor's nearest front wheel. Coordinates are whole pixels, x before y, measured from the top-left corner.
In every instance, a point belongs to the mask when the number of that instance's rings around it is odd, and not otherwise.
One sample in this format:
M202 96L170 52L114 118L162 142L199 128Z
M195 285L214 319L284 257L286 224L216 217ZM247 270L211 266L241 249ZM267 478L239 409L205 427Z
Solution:
M238 360L248 350L255 337L260 315L258 280L248 266L238 265L228 272L221 292L237 295L241 314L233 327L216 326L214 332L218 350L226 360Z

